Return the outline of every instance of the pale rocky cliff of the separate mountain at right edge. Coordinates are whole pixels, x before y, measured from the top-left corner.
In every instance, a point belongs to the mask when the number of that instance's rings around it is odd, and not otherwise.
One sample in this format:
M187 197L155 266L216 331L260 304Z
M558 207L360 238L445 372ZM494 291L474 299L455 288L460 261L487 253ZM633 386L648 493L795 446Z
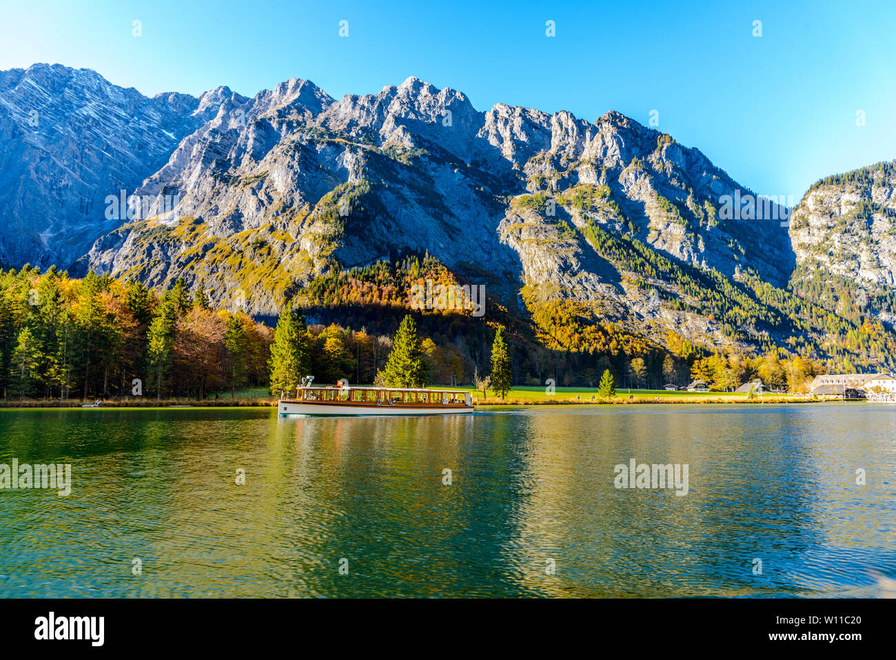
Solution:
M896 162L818 181L793 213L790 240L795 287L840 311L896 321Z

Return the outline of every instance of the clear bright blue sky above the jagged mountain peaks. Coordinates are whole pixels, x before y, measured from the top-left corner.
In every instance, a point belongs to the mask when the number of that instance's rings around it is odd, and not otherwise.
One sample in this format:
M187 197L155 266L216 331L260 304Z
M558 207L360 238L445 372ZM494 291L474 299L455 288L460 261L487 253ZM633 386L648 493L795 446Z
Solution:
M298 77L340 98L416 75L480 110L616 109L642 124L657 110L660 130L746 187L796 200L817 178L896 158L892 0L0 3L0 69L90 67L148 95L254 96Z

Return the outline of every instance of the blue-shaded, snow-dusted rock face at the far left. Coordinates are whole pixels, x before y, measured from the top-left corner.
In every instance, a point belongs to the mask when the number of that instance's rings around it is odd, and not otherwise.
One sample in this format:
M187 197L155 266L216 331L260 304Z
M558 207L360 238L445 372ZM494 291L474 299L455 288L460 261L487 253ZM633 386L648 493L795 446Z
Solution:
M0 259L67 266L83 256L120 224L107 218L108 195L168 161L215 115L215 96L148 99L62 65L0 72Z

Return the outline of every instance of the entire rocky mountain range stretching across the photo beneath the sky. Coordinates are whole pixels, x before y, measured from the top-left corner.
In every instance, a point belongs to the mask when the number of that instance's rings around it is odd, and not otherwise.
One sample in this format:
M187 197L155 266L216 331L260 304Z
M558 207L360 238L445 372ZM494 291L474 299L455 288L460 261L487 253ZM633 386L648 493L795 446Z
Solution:
M295 78L147 98L43 64L0 72L0 137L7 265L183 277L275 317L319 303L321 278L428 255L554 348L609 326L892 364L892 163L787 208L615 111L480 111L414 77L340 100Z

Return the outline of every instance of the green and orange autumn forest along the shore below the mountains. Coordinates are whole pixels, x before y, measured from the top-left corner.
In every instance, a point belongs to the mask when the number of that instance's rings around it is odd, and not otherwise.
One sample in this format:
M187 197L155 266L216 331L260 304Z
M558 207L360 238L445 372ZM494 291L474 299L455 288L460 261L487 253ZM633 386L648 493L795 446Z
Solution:
M489 373L498 328L505 332L511 385L544 385L553 378L558 386L597 387L608 369L620 387L659 388L700 378L714 389L733 389L761 378L771 388L799 392L826 370L819 360L778 347L708 352L673 333L663 347L655 346L613 326L582 325L577 311L564 305L535 308L532 319L513 316L493 300L490 320L471 317L469 310L409 310L410 283L428 277L455 282L429 257L316 280L297 300L307 352L303 368L321 384L341 378L373 383L410 313L426 384L470 385L474 374ZM0 272L5 400L234 396L246 387L271 386L274 336L274 328L240 309L211 308L202 281L192 292L182 279L156 291L104 275L74 279L55 267ZM854 369L846 358L840 367Z

